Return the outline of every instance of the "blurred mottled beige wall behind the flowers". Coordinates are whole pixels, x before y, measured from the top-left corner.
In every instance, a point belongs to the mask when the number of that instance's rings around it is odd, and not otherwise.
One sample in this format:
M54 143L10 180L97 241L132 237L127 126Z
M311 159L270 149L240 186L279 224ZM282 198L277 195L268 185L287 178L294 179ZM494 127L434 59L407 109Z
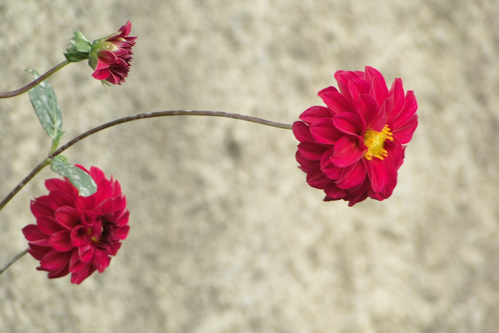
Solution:
M126 84L86 63L49 81L63 141L126 115L238 112L291 123L334 71L379 69L415 91L420 125L386 201L321 201L291 131L206 117L120 125L66 152L121 182L131 232L80 286L26 256L0 276L0 332L499 331L497 0L0 0L0 90L127 19ZM0 195L49 148L27 94L0 100ZM0 265L26 248L29 199L0 213Z

